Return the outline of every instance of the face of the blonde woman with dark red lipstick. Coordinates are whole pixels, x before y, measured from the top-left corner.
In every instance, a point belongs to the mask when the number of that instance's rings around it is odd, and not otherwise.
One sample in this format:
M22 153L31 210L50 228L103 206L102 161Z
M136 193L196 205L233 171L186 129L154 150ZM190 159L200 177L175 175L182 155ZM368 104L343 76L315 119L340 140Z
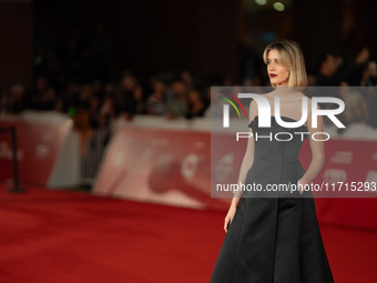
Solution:
M289 71L281 64L281 55L276 49L269 50L267 54L267 72L272 84L288 85Z

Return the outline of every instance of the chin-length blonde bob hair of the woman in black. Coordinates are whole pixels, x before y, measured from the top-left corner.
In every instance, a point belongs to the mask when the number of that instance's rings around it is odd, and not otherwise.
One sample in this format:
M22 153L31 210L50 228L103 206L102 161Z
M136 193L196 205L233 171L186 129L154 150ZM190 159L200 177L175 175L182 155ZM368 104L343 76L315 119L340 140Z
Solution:
M263 61L267 64L271 50L277 50L282 64L289 71L288 87L306 87L307 74L304 55L297 43L291 40L279 40L269 43L263 52ZM276 85L273 84L275 88Z

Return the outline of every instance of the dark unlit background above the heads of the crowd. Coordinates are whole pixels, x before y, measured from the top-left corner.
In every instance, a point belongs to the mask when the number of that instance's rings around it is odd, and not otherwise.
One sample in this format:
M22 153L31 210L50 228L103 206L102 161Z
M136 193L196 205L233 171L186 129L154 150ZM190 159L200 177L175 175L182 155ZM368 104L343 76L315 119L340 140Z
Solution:
M38 63L74 33L104 29L111 47L103 58L108 78L132 69L139 78L161 70L188 70L205 81L218 73L240 79L244 59L274 39L298 41L308 71L322 52L376 57L377 2L371 0L282 1L0 1L0 87L32 88ZM99 47L99 52L106 47ZM109 48L109 46L108 46ZM251 51L252 50L252 51ZM55 54L55 55L59 55Z

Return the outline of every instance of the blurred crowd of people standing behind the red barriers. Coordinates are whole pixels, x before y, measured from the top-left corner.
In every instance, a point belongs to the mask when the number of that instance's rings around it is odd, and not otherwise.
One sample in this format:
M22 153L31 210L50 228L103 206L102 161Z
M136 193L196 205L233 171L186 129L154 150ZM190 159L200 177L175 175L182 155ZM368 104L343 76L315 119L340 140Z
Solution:
M137 114L167 119L203 117L208 111L211 85L269 85L268 78L262 74L265 70L262 64L253 65L258 69L253 71L254 78L240 81L216 77L203 83L188 71L161 71L142 81L132 70L121 72L114 81L103 75L111 70L106 62L113 62L106 55L111 52L111 40L99 29L89 42L83 44L79 36L72 36L63 51L44 52L35 60L34 89L28 90L22 83L8 85L0 93L0 112L58 111L72 117L75 127L85 130L109 127L114 119L132 120ZM324 53L318 58L317 73L309 73L308 84L377 85L376 62L363 49L347 61L339 54ZM377 127L371 122L377 110L375 97L355 94L344 99L359 104L353 110L359 121ZM351 115L349 121L353 119Z

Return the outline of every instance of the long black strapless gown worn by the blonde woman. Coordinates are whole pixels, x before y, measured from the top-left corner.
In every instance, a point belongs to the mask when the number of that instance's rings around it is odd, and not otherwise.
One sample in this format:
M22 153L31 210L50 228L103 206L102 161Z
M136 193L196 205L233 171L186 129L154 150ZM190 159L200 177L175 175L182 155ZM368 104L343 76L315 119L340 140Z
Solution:
M291 132L294 138L284 142L255 141L254 162L245 185L297 183L305 173L297 159L303 141L293 132L307 132L307 128L283 128L274 117L271 128L258 128L257 118L248 125L254 137ZM287 137L282 134L279 139ZM245 193L228 226L210 283L334 282L312 192L304 191L300 195L297 191L288 198L284 192L273 198Z

